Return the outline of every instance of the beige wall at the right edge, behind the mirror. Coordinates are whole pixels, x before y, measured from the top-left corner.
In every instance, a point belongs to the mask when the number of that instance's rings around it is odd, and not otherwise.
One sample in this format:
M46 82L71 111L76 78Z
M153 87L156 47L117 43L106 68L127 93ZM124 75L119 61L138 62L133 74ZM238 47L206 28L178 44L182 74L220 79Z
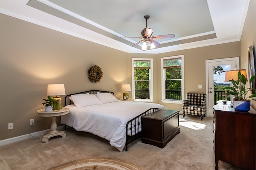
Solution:
M248 13L246 16L246 21L244 24L244 29L241 37L241 67L245 68L248 73L248 47L251 45L253 49L254 56L255 53L255 46L256 46L256 1L251 0ZM255 58L254 58L255 59ZM255 61L256 62L256 61ZM256 109L256 102L251 100L251 105Z

